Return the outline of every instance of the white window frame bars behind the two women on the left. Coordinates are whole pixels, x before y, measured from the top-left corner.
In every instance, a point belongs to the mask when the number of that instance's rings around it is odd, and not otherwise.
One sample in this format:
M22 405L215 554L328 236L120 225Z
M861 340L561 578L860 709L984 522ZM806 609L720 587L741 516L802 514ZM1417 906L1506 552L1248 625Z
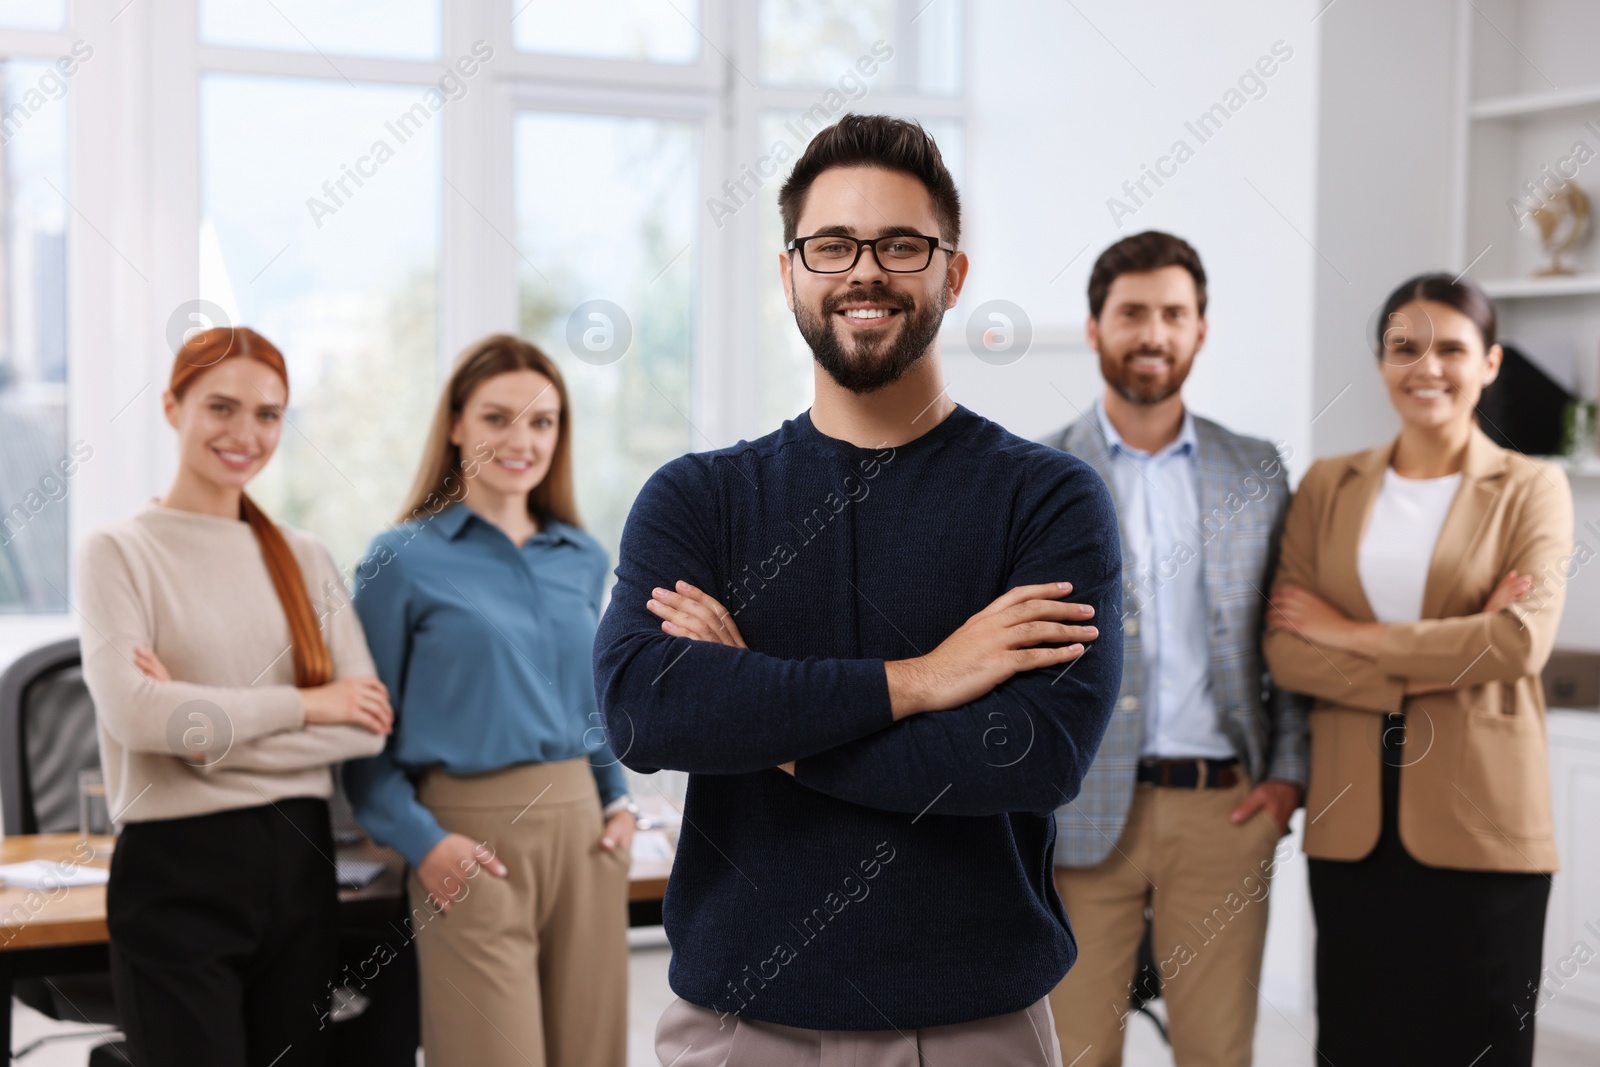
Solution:
M904 32L923 0L896 0ZM653 64L520 53L510 0L442 0L434 61L272 51L206 45L198 0L131 3L107 14L98 0L69 0L62 30L3 30L0 54L54 58L88 40L67 104L72 221L67 234L69 440L96 448L69 493L72 549L98 526L134 512L165 488L176 448L158 397L171 354L165 325L198 291L200 80L211 72L341 78L387 85L434 83L448 61L485 40L494 56L443 125L443 203L438 250L438 376L483 334L517 328L517 253L512 123L525 109L691 118L699 123L699 274L694 285L691 422L688 448L702 451L773 427L762 418L760 318L763 278L778 250L762 248L755 211L717 226L706 202L765 150L758 120L768 109L805 110L826 86L760 83L758 3L701 0L701 56ZM973 19L962 8L962 38ZM966 122L970 50L960 93L923 96L874 88L870 110ZM896 54L901 45L896 45ZM750 77L747 78L744 70ZM722 314L738 309L734 315ZM104 443L104 446L102 446ZM70 573L74 603L77 576ZM0 617L70 632L72 616ZM16 629L16 627L13 627Z

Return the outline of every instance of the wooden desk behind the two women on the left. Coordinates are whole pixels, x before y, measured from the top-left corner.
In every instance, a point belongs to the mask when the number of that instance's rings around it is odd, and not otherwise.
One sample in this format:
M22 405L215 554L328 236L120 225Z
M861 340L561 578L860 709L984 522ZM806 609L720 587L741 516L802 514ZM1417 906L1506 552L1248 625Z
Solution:
M0 864L46 859L109 867L114 837L91 837L86 856L77 833L35 833L0 838ZM344 925L394 912L405 893L405 861L371 841L341 845L341 859L376 859L384 872L360 889L339 889ZM661 897L667 889L670 859L634 862L629 885L629 921L634 926L661 921ZM0 888L0 1049L11 1049L11 982L18 977L107 971L106 886L50 889Z

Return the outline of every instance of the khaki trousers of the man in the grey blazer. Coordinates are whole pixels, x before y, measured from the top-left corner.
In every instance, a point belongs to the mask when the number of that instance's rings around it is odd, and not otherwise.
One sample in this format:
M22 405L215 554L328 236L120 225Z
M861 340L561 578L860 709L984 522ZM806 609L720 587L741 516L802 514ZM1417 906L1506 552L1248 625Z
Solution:
M1256 1032L1269 875L1278 824L1229 813L1250 793L1138 785L1117 848L1094 867L1056 867L1078 961L1050 995L1061 1056L1122 1064L1144 909L1178 1067L1248 1067Z

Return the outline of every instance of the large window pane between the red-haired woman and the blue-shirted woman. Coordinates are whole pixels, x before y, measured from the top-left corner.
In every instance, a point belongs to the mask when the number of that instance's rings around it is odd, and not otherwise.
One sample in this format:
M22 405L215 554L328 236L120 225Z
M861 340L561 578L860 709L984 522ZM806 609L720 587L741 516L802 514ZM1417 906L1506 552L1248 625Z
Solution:
M200 299L290 368L251 496L346 566L400 512L437 397L442 122L418 86L200 83Z

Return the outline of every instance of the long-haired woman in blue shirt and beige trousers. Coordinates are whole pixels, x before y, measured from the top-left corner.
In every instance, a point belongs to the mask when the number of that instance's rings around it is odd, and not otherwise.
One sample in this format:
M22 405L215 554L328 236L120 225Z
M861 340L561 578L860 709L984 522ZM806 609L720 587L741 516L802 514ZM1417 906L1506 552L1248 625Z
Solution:
M590 648L608 560L578 526L571 408L512 336L456 362L355 606L397 725L344 768L411 862L430 1064L621 1067L634 805Z

